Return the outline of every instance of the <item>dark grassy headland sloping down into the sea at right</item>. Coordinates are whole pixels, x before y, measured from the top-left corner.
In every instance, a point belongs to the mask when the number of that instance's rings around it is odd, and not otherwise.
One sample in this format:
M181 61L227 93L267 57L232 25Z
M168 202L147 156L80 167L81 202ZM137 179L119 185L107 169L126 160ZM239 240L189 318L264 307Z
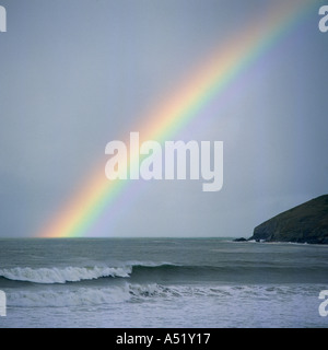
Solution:
M261 223L254 229L250 240L328 244L328 195Z

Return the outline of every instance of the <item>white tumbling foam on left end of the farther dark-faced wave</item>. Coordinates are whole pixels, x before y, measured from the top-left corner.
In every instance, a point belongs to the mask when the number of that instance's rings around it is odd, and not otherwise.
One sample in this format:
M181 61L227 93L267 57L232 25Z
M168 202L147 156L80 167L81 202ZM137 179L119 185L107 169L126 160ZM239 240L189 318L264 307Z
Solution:
M0 269L0 276L14 281L34 283L66 283L82 280L98 279L102 277L129 277L131 267L65 267L39 268L15 267Z

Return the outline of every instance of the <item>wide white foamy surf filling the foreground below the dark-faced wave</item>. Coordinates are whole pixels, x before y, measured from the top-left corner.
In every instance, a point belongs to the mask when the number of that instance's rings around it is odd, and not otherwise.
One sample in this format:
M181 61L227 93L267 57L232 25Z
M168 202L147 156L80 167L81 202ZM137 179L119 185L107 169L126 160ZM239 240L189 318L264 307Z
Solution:
M110 288L52 284L42 290L9 290L8 315L13 318L8 317L8 324L3 323L3 326L325 327L326 319L319 317L317 311L317 291L321 288L308 284L162 285L124 282Z

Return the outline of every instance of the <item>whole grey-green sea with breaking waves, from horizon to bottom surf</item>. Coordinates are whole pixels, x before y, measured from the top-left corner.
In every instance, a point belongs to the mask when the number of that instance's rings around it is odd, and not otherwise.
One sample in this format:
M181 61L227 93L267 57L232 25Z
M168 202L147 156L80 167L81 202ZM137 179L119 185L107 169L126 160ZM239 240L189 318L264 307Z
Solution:
M0 328L327 327L328 246L0 240Z

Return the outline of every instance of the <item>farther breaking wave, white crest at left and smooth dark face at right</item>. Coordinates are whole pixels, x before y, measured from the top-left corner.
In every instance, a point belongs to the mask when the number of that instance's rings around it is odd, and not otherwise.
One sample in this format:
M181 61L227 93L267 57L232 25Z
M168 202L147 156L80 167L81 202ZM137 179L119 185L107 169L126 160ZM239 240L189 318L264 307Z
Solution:
M22 283L55 284L77 283L81 285L119 283L126 280L132 283L164 282L318 282L325 278L328 266L266 261L236 260L233 264L177 265L171 262L126 261L122 266L87 267L14 267L0 269L0 287L21 287ZM5 279L3 281L3 279ZM1 281L2 280L2 281Z

